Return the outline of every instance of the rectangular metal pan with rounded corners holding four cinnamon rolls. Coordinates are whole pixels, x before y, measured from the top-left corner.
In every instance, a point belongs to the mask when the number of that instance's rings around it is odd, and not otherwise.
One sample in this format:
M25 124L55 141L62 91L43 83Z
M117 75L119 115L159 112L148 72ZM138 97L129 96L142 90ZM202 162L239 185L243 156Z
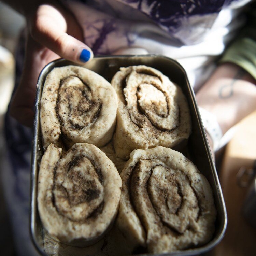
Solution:
M30 231L31 239L35 247L41 255L45 256L47 256L47 254L43 249L42 225L37 210L37 177L39 171L39 163L43 153L40 135L40 98L47 74L55 67L71 64L75 65L74 63L64 59L58 59L49 63L39 75L37 84L31 162ZM189 85L185 70L177 61L161 55L96 56L93 60L83 66L105 77L106 80L111 81L113 75L119 70L120 67L127 67L131 65L147 65L156 68L168 76L171 81L178 84L182 88L183 93L188 100L193 127L192 134L190 135L187 144L187 152L189 153L190 160L194 162L199 171L205 175L205 177L210 182L213 189L215 205L217 208L215 233L209 243L198 248L192 248L173 253L165 253L165 255L198 255L210 251L215 245L218 244L219 241L221 241L224 236L227 225L227 214L217 172L211 156L210 147L204 132L202 120L200 118L198 106L195 100L194 91Z

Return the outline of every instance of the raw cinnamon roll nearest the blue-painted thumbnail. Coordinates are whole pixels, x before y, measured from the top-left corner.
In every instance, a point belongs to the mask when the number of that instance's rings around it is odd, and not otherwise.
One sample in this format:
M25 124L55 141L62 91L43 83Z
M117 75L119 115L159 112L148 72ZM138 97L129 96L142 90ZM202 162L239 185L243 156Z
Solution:
M46 77L40 107L44 150L50 143L108 143L116 122L117 95L111 84L79 66L54 68Z

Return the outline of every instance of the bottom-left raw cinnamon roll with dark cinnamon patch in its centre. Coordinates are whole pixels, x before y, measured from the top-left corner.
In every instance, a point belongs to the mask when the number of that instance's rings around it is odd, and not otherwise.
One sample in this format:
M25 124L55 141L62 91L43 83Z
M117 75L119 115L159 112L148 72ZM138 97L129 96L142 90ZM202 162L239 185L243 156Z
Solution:
M38 210L49 236L84 247L109 231L119 207L122 180L96 146L76 143L62 155L50 144L38 176Z

